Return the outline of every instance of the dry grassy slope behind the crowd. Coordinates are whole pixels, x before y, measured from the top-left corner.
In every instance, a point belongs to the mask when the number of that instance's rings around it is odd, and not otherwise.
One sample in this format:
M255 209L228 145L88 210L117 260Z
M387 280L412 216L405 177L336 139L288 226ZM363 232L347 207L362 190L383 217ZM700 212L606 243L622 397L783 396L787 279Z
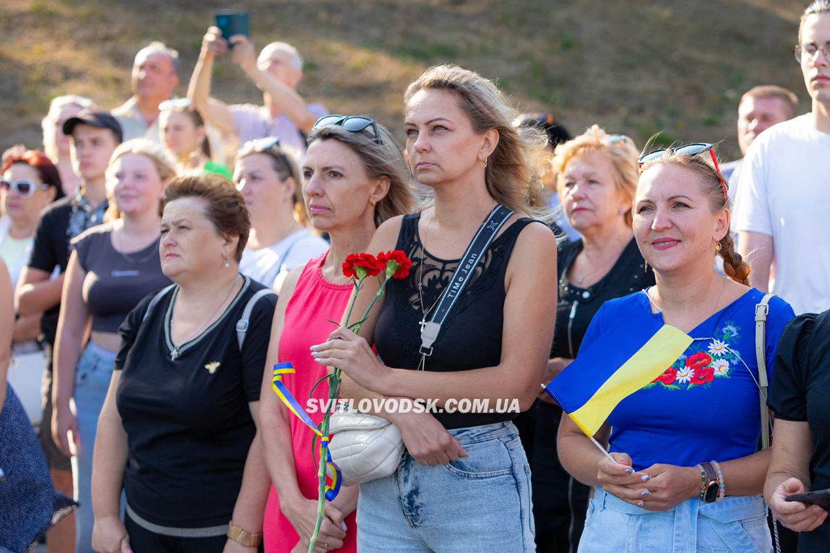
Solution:
M551 110L572 132L598 123L638 145L724 141L734 157L737 99L761 83L806 92L790 54L806 0L268 0L247 2L256 45L285 40L305 56L306 99L371 114L398 136L403 90L452 61L497 79L522 110ZM245 4L238 4L244 6ZM0 146L40 145L49 99L76 93L105 107L129 97L129 67L150 40L178 48L183 94L212 12L223 2L2 0ZM231 5L233 7L233 5ZM254 101L229 60L213 91Z

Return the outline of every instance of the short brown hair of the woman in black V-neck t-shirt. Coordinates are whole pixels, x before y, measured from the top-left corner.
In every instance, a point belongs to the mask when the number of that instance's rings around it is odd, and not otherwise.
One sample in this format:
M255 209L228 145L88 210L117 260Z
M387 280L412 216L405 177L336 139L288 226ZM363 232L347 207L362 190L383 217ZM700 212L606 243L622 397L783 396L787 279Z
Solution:
M227 178L213 173L178 177L164 188L164 206L174 200L187 197L202 198L207 206L205 216L217 232L225 236L238 236L234 258L242 260L242 250L251 232L251 216L245 206L245 198Z

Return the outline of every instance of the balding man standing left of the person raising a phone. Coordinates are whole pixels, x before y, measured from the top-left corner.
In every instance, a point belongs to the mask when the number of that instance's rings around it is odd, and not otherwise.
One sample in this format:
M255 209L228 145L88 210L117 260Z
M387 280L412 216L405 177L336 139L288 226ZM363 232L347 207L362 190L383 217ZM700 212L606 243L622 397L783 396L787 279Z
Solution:
M173 98L178 85L178 52L151 42L135 55L130 86L133 97L112 110L124 139L149 138L160 143L159 104Z

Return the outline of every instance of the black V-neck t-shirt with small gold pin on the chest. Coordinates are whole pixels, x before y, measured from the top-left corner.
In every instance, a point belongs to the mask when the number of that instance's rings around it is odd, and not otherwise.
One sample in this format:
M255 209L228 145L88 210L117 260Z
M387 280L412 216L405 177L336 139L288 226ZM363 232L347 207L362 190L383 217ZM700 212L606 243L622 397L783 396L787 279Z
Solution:
M256 302L240 352L237 321L265 288L244 279L222 317L181 344L178 357L169 338L178 288L146 319L154 294L144 298L120 327L115 369L122 371L116 404L129 449L124 488L129 507L146 521L205 528L231 518L256 434L248 403L259 400L276 306L274 295Z

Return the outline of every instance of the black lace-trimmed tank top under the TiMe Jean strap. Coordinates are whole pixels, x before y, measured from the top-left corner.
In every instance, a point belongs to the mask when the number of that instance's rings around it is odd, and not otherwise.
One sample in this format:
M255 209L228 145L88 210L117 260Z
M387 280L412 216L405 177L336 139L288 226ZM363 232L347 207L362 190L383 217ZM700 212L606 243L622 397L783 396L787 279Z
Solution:
M387 366L417 370L421 355L423 317L418 278L423 279L423 309L432 308L461 260L442 260L424 250L418 235L420 213L403 217L398 245L413 261L407 279L387 284L386 299L378 314L374 340L378 355ZM532 219L522 218L507 227L481 256L476 272L461 293L432 345L425 371L469 371L496 366L501 361L501 331L504 323L505 271L516 238ZM423 269L421 269L423 264ZM428 317L427 317L428 320ZM419 398L429 400L432 398ZM458 397L456 400L463 398ZM506 410L513 398L499 402ZM489 409L496 409L491 400ZM445 428L466 428L512 420L517 413L436 413Z

